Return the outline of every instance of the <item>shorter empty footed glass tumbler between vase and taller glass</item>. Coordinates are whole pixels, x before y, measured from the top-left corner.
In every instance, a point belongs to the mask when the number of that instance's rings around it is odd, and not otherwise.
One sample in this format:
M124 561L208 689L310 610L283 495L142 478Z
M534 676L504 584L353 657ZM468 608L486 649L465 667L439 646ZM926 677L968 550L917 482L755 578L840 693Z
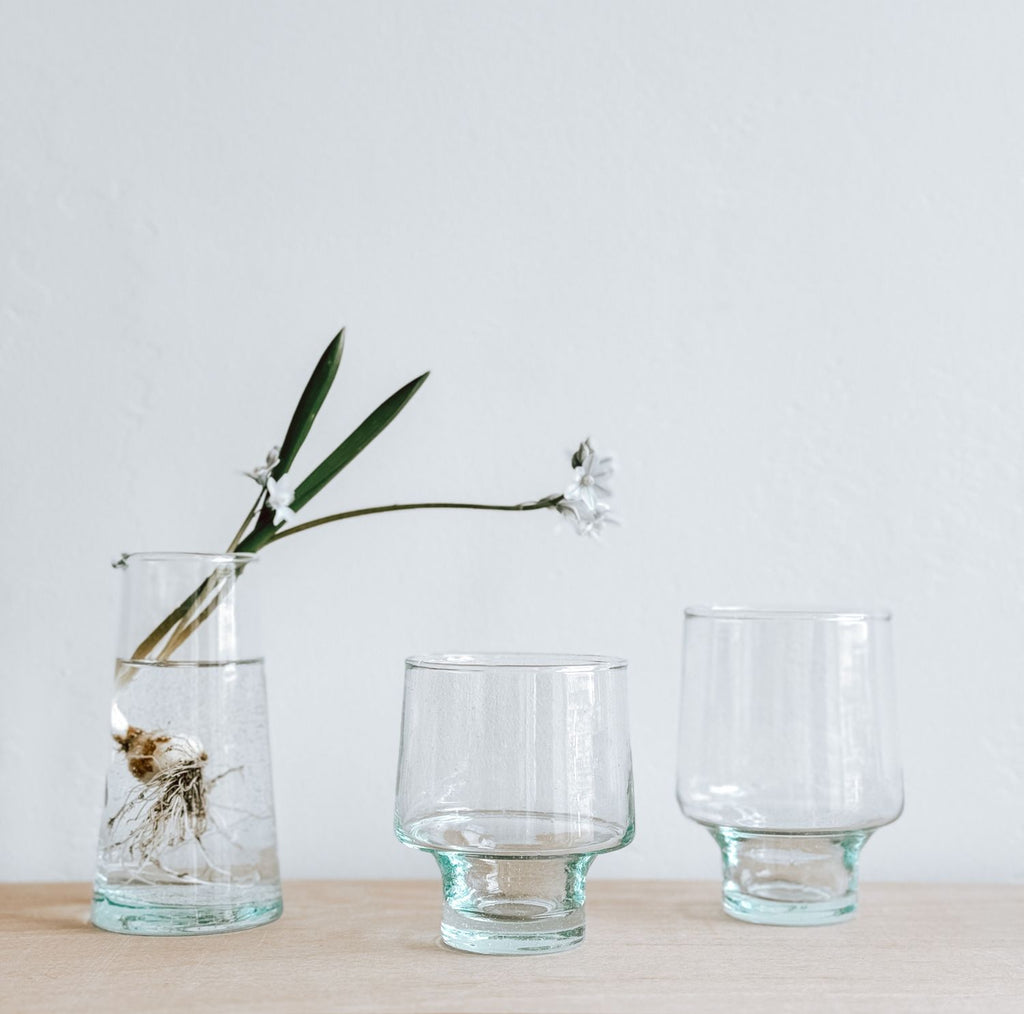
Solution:
M407 661L395 833L440 867L445 943L580 943L587 871L633 827L624 660Z

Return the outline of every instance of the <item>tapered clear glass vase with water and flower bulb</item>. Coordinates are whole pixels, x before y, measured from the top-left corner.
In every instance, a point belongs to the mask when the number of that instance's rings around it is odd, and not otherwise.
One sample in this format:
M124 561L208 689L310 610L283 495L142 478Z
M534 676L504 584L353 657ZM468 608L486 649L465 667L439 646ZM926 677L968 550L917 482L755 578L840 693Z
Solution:
M92 922L248 929L282 912L251 554L135 553L122 575Z

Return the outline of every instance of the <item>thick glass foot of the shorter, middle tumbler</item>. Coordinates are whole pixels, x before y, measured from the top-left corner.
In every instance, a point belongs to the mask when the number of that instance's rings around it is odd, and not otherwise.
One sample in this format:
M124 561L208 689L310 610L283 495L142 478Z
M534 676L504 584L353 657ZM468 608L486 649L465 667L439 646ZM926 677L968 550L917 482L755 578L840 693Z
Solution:
M482 955L536 955L583 942L592 855L497 858L434 852L441 870L441 939Z

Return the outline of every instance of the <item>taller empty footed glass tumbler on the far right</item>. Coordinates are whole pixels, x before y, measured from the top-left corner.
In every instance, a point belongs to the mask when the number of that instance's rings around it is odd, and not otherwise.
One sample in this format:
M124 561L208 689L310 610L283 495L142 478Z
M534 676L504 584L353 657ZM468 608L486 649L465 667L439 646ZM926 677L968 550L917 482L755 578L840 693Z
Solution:
M903 808L890 615L686 610L678 796L753 923L852 918L857 861Z

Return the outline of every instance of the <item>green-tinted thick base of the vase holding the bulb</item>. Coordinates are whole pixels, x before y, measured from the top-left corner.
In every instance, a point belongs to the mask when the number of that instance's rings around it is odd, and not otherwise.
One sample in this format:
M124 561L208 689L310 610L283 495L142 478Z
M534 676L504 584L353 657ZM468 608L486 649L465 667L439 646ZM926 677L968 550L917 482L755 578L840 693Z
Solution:
M221 891L219 901L200 898L189 887L177 891L180 901L169 900L175 889L167 887L97 888L92 896L91 922L113 933L193 936L263 926L279 919L283 911L279 887Z

